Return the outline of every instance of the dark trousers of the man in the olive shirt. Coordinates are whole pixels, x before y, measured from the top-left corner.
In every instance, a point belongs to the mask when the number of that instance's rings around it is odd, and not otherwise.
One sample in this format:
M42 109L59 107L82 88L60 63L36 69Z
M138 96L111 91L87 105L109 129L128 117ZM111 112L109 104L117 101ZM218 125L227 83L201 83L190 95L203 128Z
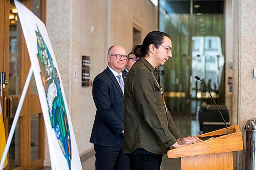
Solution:
M156 154L127 154L130 158L131 170L159 170L163 155Z

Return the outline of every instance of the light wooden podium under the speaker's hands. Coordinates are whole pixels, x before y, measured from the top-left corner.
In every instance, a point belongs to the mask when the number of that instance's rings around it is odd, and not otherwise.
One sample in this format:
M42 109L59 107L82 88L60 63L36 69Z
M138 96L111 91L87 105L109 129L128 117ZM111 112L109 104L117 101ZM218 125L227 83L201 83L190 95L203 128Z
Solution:
M242 133L239 126L231 126L208 132L197 137L216 136L199 143L172 149L167 152L168 158L181 158L181 169L233 169L233 151L243 150ZM226 135L225 135L226 134Z

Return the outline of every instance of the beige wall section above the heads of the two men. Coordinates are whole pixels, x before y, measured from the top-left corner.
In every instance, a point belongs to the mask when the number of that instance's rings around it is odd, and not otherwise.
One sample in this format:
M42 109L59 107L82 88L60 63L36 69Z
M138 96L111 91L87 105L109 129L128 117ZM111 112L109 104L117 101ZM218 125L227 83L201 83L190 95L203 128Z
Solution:
M146 34L158 30L158 12L150 0L111 1L111 44L122 44L128 54L133 48L133 28Z

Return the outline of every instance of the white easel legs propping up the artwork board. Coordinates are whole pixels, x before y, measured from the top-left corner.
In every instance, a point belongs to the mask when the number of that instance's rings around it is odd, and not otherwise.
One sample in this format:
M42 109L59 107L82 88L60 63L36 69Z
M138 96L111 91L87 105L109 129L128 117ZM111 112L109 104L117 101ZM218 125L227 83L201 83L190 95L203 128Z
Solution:
M3 169L5 159L7 157L7 153L10 149L11 140L12 140L12 137L13 137L13 134L14 134L14 131L15 131L15 127L16 127L17 122L18 122L18 117L19 117L20 111L22 110L22 106L23 106L23 103L24 103L26 93L28 91L28 87L29 87L29 83L30 83L32 75L33 75L33 68L32 68L32 66L30 66L29 74L28 74L28 77L26 79L26 82L25 82L25 85L24 85L24 88L23 88L23 91L22 91L22 95L20 96L18 107L17 107L16 113L15 113L15 116L14 116L14 119L13 119L12 127L11 127L10 133L8 135L8 139L6 141L5 151L4 151L3 157L1 159L0 169ZM1 92L2 92L2 89L1 89ZM51 148L52 148L52 146L49 142L49 149L51 150ZM55 170L54 161L52 160L53 157L51 155L51 152L50 152L50 159L51 159L52 169Z

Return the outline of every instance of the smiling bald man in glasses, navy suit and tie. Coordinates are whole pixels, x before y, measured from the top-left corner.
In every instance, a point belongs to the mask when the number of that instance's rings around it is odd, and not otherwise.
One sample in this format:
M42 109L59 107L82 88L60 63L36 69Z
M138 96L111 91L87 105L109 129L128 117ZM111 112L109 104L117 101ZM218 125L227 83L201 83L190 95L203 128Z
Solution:
M121 71L127 57L122 46L111 46L106 55L108 66L93 82L93 100L97 111L90 142L94 143L96 169L129 169L129 158L123 153L126 73Z

